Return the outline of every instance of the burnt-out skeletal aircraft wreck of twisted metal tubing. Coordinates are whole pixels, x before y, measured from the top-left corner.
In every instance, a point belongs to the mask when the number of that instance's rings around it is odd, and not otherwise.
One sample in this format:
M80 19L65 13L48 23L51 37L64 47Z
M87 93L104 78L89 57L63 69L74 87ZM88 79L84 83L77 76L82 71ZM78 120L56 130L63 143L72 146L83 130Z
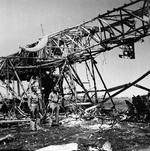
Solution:
M99 14L77 26L43 36L35 43L20 47L16 53L1 57L0 80L14 98L21 100L18 107L24 102L24 96L30 89L31 81L36 77L38 77L43 97L41 102L43 110L45 110L48 95L55 86L60 88L62 96L71 95L74 101L76 101L78 93L84 93L89 102L95 105L94 107L108 100L111 100L115 107L112 98L133 85L147 91L150 90L137 84L149 75L150 71L131 83L108 89L98 70L95 58L102 52L111 51L118 47L123 52L119 57L135 59L134 44L149 36L149 29L150 1L132 1L102 15ZM74 68L74 64L83 62L93 80L93 90L88 90L84 86ZM104 86L102 90L97 89L96 74ZM27 89L25 89L22 81L28 81ZM64 81L70 89L67 94L63 91ZM13 86L15 82L18 85L17 91ZM78 92L76 84L83 91ZM118 91L111 95L111 92L116 90ZM104 92L102 102L98 102L98 92ZM19 110L22 112L21 109Z

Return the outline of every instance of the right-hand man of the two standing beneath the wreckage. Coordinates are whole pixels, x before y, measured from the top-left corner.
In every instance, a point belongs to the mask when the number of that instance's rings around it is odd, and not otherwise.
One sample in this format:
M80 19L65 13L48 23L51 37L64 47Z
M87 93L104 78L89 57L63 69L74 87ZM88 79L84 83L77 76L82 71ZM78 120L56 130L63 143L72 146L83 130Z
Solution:
M59 88L54 87L52 92L49 94L49 103L48 103L48 109L51 109L52 112L49 117L49 125L52 125L52 118L53 114L55 113L55 121L56 125L59 125L59 109L60 109L60 101L61 97L59 95Z

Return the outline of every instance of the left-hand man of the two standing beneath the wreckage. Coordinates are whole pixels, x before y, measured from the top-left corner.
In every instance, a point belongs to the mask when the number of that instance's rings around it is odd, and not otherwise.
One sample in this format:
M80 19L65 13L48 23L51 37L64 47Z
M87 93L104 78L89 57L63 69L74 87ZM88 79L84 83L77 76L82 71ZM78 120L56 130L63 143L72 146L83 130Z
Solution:
M31 94L29 96L29 108L31 111L31 130L39 130L40 127L40 95L37 93L37 87L33 85L31 87Z

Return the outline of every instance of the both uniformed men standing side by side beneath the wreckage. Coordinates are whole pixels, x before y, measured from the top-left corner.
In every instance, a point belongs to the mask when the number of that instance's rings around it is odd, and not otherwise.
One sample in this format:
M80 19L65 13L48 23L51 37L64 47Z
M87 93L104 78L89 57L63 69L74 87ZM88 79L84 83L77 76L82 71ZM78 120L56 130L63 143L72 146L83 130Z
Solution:
M52 125L53 122L53 115L55 113L55 121L56 124L59 124L59 108L60 108L60 97L58 93L58 88L54 87L54 89L51 91L49 94L48 98L48 105L46 110L49 111L49 125ZM38 86L32 85L31 86L31 92L28 97L28 106L31 112L31 121L30 121L30 128L31 130L39 130L42 129L40 126L40 121L42 118L42 114L40 112L40 107L41 107L41 93L39 91ZM51 112L50 112L51 110Z

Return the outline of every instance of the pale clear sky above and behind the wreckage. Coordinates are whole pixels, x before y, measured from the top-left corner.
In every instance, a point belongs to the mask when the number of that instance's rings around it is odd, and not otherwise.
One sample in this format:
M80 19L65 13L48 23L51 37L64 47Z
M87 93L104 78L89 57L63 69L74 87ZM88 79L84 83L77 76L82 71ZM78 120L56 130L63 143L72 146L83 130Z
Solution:
M0 0L0 54L7 56L19 46L36 41L45 34L75 26L129 0ZM98 68L108 88L132 82L149 70L150 38L136 44L136 59L120 59L119 49L101 54ZM82 66L82 68L84 68ZM81 74L81 77L82 73ZM85 76L84 76L85 77ZM84 79L85 80L85 79ZM97 79L99 80L99 79ZM98 87L101 88L100 82ZM149 87L149 77L139 84ZM132 88L120 96L147 93Z

